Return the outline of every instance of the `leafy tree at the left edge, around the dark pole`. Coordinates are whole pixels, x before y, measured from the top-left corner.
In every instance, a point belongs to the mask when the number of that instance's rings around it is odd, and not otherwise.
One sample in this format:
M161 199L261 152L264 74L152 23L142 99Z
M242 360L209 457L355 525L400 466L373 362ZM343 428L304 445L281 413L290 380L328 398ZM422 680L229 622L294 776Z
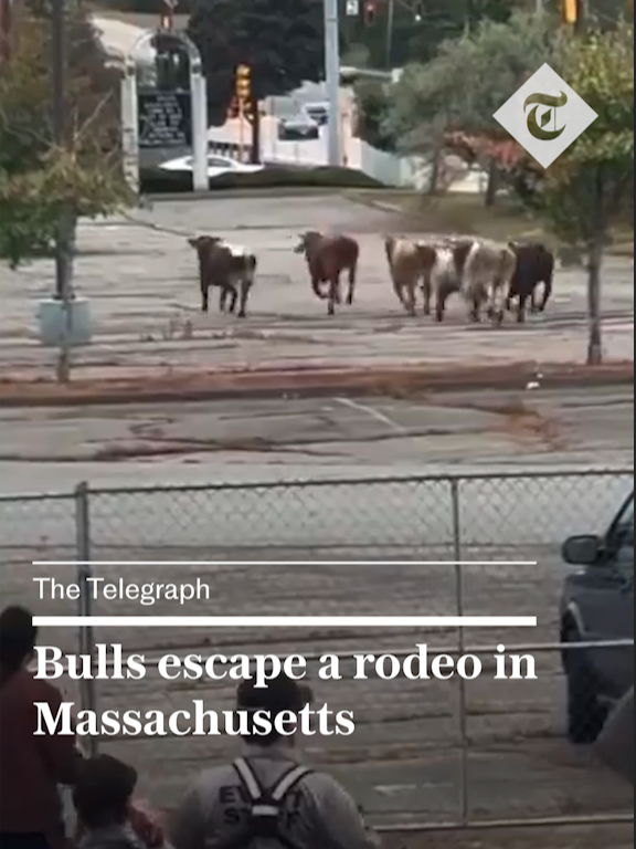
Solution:
M50 251L62 216L74 228L78 218L106 214L128 200L115 120L117 77L83 4L67 2L67 10L64 149L52 133L50 3L38 0L19 11L14 50L0 74L0 256L13 266Z

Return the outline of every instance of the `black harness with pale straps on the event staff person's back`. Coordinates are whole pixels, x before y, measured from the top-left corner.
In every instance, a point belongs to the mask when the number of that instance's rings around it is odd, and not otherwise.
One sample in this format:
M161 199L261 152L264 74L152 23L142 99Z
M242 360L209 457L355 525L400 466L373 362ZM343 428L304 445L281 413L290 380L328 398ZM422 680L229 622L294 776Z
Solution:
M311 769L306 766L293 766L273 787L264 789L246 758L237 758L232 766L250 796L250 820L240 834L222 845L223 849L250 849L257 838L267 840L272 849L277 845L280 849L301 849L280 832L280 814L288 794L303 778L311 774Z

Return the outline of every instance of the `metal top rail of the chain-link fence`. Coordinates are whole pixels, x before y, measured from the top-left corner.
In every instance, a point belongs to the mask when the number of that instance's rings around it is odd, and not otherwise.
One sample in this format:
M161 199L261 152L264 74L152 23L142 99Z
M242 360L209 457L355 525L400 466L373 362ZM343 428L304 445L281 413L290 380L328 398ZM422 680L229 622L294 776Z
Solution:
M326 489L329 486L369 486L388 484L449 484L458 485L476 481L513 481L513 480L558 480L563 478L630 478L634 479L634 467L585 467L563 469L522 469L502 471L468 471L447 472L444 474L381 474L360 476L328 476L328 478L286 478L277 481L226 481L184 484L148 484L146 486L91 486L86 481L80 482L73 491L53 493L6 493L0 494L2 502L34 502L54 501L77 497L81 494L92 495L141 495L147 493L170 492L216 492L229 490L290 490L290 489Z

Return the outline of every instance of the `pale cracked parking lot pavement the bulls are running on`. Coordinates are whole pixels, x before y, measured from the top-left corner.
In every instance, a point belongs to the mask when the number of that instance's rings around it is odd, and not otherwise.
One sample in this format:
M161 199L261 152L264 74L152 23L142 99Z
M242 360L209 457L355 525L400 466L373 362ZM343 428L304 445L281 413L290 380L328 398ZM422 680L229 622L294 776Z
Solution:
M171 201L80 232L76 283L91 301L95 342L75 356L76 375L153 375L236 368L431 366L581 361L586 349L585 279L561 270L543 316L524 327L468 325L459 301L448 321L404 314L388 280L383 232L411 227L400 217L339 196ZM300 231L343 230L361 244L352 307L335 318L309 289ZM250 245L259 273L243 323L200 313L197 261L187 235L216 233ZM422 235L422 233L418 233ZM4 379L50 377L56 352L36 338L39 298L53 285L52 263L3 270L0 366ZM608 357L633 358L632 263L608 260L604 272L604 338Z

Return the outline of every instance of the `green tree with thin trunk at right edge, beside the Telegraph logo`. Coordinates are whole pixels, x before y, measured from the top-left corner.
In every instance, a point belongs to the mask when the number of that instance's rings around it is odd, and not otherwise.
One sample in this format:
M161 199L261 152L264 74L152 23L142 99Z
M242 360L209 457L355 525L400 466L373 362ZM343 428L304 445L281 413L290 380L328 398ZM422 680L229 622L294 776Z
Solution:
M534 208L587 256L587 363L603 359L602 272L612 228L634 226L634 28L623 23L573 39L563 77L598 114L545 172Z

